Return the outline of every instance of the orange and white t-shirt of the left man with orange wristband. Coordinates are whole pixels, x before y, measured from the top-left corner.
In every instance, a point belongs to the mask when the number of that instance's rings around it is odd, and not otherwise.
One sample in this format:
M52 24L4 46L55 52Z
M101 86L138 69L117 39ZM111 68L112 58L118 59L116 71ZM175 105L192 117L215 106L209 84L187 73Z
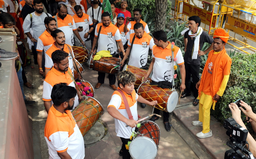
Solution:
M37 39L37 51L46 52L54 42L53 37L45 30Z

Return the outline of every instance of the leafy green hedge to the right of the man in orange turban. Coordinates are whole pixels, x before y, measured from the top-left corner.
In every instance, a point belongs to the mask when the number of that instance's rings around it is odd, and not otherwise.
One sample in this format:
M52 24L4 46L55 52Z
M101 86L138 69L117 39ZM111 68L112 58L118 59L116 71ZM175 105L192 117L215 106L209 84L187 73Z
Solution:
M241 99L256 113L256 54L237 54L232 58L231 72L226 90L215 107L214 115L219 120L231 117L228 104ZM245 115L241 113L242 120Z

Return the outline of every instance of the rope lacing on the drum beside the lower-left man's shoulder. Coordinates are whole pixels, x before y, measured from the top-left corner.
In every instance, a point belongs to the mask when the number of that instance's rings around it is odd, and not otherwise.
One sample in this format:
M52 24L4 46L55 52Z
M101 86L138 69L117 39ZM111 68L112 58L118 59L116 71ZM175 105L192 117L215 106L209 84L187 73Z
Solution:
M88 99L88 98L87 98L87 99ZM81 104L81 103L84 103L84 104ZM88 117L86 117L86 118L81 118L80 120L76 120L76 123L77 123L78 121L81 121L81 120L84 120L84 119L87 119L87 118L88 118L87 123L82 123L82 122L80 122L80 125L78 125L79 129L82 129L82 128L87 129L87 127L89 127L89 126L91 126L91 125L94 125L94 123L98 120L98 119L96 120L96 117L95 117L94 119L92 119L91 117L97 116L97 115L101 116L101 115L104 113L104 110L103 110L102 112L99 112L99 105L98 105L98 106L94 106L94 105L93 105L93 101L90 101L90 102L82 101L81 103L76 107L77 109L74 109L74 110L73 110L73 111L75 111L74 114L73 114L73 116L76 116L76 115L79 115L79 116L81 116L81 117L84 117L84 115L87 116L86 113L88 113L87 111L90 110L90 111L89 111L89 112L90 112L90 116L88 116ZM78 110L79 107L82 107L82 106L84 106L84 105L89 105L89 104L92 105L92 107L90 107L89 109L84 109L83 111L79 111L78 113L76 113L76 110ZM85 108L85 107L84 107L84 108ZM92 111L93 111L92 108L96 108L96 110L97 110L96 113L93 112L93 113L94 113L93 115L91 115L91 114L92 114ZM73 113L73 111L72 111L72 113ZM82 113L82 114L80 114L80 113ZM92 119L92 121L91 121L90 119ZM89 124L89 121L91 122L91 124ZM82 125L86 125L86 126L82 126ZM87 131L89 131L89 130L87 130ZM87 131L84 132L84 134L86 134ZM84 134L82 134L82 135L84 135Z

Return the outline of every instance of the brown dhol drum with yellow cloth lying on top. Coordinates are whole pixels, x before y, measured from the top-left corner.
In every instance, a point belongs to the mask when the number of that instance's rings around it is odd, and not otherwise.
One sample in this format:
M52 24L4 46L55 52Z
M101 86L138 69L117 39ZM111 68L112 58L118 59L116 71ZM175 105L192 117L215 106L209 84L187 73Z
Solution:
M99 60L93 60L93 56L91 56L90 59L90 66L89 69L92 69L94 71L102 72L102 73L108 73L108 74L114 74L116 75L120 71L120 66L118 66L121 62L121 59L117 57L101 57ZM116 67L118 66L118 67ZM113 69L116 67L115 69ZM111 69L113 69L111 71ZM111 73L110 73L111 71Z

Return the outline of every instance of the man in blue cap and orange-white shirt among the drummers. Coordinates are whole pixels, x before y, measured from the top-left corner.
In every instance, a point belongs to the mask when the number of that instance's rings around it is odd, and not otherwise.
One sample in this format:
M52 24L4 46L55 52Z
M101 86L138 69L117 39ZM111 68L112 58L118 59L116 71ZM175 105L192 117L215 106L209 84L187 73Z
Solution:
M129 31L129 29L127 30L127 23L124 23L124 15L123 13L119 13L117 15L117 19L116 19L116 27L119 29L120 35L121 35L121 40L123 43L123 49L126 50L127 49L127 38L126 38L126 33ZM127 30L127 32L124 32L124 30ZM123 59L123 54L121 52L121 49L118 49L118 52L120 53L121 58Z

